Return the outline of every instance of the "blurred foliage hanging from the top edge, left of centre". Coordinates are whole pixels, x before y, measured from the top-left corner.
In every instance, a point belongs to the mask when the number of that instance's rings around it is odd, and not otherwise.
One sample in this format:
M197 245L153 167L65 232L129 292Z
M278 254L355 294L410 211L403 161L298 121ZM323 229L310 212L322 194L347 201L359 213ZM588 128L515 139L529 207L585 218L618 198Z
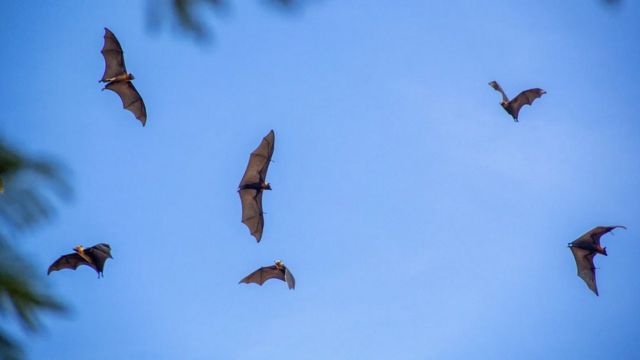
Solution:
M313 0L257 0L281 10L293 10ZM149 21L157 28L173 18L178 27L197 39L205 40L211 31L202 20L202 13L224 12L231 6L230 0L148 0Z

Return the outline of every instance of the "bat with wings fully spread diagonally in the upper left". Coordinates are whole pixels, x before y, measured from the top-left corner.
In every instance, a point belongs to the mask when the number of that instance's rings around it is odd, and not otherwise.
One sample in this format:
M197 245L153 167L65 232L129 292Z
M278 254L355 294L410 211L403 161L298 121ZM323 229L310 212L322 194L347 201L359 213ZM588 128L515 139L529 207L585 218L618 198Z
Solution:
M118 94L122 100L122 106L131 111L144 126L147 123L147 109L144 106L144 101L131 83L131 80L135 78L133 74L127 73L122 47L118 39L107 28L104 28L102 55L104 56L105 69L100 82L108 83L102 90L107 89Z

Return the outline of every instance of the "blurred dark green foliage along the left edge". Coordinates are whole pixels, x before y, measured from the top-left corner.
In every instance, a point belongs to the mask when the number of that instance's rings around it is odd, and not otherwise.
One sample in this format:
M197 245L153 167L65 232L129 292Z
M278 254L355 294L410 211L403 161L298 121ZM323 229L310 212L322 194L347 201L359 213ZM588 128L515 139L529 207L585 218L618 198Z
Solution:
M12 240L51 216L52 195L67 199L71 189L51 162L28 158L2 141L0 178L4 184L0 194L0 318L13 318L28 332L36 332L39 313L60 312L64 307L42 290L36 272L14 250ZM21 346L0 327L0 359L23 358Z

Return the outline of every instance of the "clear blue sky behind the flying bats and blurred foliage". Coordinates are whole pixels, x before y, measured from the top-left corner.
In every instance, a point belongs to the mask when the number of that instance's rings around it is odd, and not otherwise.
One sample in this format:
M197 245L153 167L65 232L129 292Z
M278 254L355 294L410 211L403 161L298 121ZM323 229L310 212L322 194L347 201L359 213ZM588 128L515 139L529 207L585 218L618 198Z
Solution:
M72 309L32 359L640 359L640 3L234 1L208 46L148 5L0 12L0 132L75 189L21 242ZM100 91L104 26L144 128ZM515 124L491 80L548 94ZM236 189L270 129L256 244ZM567 243L613 224L596 297ZM103 279L46 277L98 242ZM275 259L295 291L238 284Z

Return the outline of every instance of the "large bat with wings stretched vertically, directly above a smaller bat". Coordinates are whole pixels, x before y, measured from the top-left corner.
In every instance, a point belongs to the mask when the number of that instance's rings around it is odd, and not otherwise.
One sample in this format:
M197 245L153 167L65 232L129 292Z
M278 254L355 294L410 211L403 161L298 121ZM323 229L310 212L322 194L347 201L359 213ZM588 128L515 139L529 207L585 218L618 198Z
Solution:
M271 156L273 155L274 141L275 134L271 130L251 153L249 164L247 164L247 169L244 171L244 176L242 176L238 186L238 193L240 193L240 201L242 202L242 223L247 225L251 235L258 242L262 238L262 229L264 228L262 192L271 190L271 184L267 182L266 178Z

